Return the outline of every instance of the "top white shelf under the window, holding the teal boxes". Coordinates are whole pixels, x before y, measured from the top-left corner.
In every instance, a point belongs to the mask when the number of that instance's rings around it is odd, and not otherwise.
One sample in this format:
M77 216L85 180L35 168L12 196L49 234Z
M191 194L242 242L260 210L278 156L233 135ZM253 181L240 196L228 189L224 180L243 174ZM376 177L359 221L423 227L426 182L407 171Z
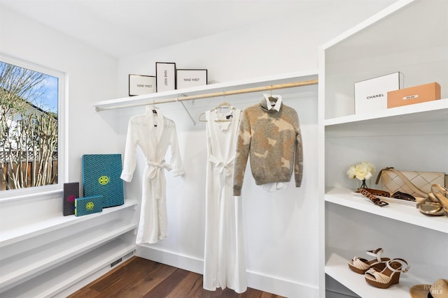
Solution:
M130 208L135 205L137 205L136 200L126 200L125 204L123 205L117 207L104 208L102 212L86 216L74 216L74 215L63 216L61 212L59 214L55 214L50 218L46 218L43 221L39 221L29 225L23 225L14 229L2 230L0 232L0 248L3 246L14 244L18 241L30 239L32 237L45 234L47 232L52 232L54 230L66 228L76 223L88 221L92 218L97 218L99 216L104 216L106 214L111 214L116 211Z

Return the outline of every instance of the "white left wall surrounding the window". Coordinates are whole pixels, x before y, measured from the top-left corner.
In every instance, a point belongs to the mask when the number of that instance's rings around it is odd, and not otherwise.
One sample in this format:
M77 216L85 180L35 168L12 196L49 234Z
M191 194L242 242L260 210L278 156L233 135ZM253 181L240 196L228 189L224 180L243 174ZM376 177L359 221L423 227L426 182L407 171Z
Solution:
M0 52L66 74L69 167L66 181L82 181L83 154L118 151L116 134L109 122L92 107L92 103L97 100L116 96L116 59L2 6ZM64 117L64 114L60 117ZM6 229L23 221L60 213L61 198L57 194L43 200L31 198L21 202L0 203L0 225Z

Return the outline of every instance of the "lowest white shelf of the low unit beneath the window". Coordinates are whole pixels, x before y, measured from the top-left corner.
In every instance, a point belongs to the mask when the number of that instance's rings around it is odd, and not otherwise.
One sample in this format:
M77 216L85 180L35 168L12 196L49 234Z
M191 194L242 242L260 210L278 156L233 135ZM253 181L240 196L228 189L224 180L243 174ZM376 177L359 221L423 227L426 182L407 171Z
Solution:
M132 253L134 244L114 239L79 258L25 281L1 293L2 298L52 297L71 285L82 281L100 269L110 266L118 258Z

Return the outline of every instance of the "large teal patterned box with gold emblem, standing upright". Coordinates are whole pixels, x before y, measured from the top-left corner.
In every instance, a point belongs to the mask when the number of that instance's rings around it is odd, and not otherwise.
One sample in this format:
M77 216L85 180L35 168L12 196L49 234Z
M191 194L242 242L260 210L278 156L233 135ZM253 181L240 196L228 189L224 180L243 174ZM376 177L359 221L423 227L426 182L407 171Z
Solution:
M121 154L83 155L84 196L103 195L103 208L125 204Z

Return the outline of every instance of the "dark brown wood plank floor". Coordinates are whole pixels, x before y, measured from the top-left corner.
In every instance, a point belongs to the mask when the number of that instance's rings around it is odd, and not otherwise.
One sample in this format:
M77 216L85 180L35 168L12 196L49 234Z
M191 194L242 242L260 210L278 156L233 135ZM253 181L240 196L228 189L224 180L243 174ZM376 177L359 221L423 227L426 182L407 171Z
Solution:
M116 269L93 281L69 298L282 298L248 288L237 294L230 289L207 291L202 288L202 275L176 267L133 257Z

